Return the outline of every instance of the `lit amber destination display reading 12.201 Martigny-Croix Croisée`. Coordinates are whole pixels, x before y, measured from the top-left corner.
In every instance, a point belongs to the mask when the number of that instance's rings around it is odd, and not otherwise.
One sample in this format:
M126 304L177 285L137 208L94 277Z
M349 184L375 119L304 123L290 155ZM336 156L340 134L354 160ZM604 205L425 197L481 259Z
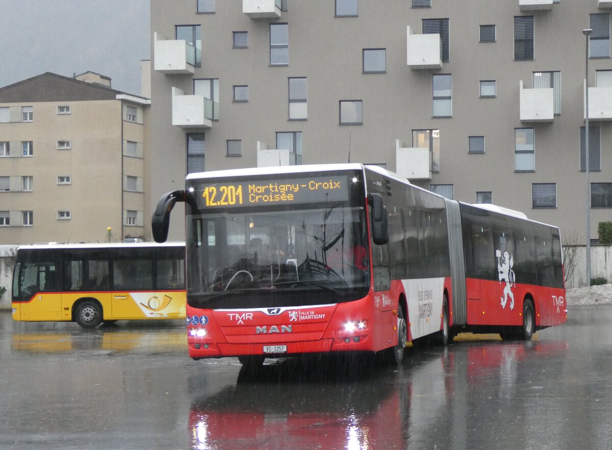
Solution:
M198 186L202 207L269 206L348 200L346 176L206 183Z

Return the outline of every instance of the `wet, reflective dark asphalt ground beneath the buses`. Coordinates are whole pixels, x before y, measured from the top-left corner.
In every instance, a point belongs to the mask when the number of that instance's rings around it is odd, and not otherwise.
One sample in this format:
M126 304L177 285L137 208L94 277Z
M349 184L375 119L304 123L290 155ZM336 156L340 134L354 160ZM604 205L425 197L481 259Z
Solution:
M0 449L609 449L612 306L531 342L460 335L362 359L192 361L182 320L0 312Z

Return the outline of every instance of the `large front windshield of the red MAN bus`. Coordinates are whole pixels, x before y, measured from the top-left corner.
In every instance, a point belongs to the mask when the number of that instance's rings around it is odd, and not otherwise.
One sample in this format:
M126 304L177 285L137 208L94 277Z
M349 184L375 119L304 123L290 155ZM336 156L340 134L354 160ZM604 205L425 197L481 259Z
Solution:
M348 201L308 206L188 216L190 304L300 306L367 294L364 208Z

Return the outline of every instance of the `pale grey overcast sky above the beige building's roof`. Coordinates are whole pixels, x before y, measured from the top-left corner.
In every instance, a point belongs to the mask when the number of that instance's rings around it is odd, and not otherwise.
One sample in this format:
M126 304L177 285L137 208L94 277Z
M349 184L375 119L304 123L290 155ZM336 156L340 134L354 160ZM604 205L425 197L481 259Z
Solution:
M0 0L0 87L91 70L140 95L149 18L149 0Z

